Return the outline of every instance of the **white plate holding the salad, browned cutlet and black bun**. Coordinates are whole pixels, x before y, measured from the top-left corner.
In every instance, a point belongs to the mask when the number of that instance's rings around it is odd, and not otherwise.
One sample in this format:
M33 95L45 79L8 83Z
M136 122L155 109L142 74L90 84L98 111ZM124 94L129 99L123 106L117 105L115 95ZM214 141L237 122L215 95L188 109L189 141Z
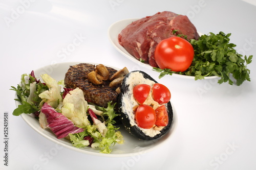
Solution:
M46 69L47 67L42 67L39 69L34 70L35 76L39 77L39 75L47 73L52 78L56 79L57 81L63 80L65 78L65 74L67 70L69 69L69 66L79 64L82 62L67 62L67 63L58 63L58 65L47 66L51 67L51 69ZM91 63L95 64L96 63ZM108 66L108 65L106 65ZM110 66L112 67L112 66ZM115 67L113 67L115 68ZM119 69L119 68L115 68ZM51 70L51 72L46 72L45 70ZM39 78L40 79L40 78ZM40 79L41 80L41 79ZM17 96L16 96L17 98ZM16 106L18 106L20 103L16 101ZM173 104L172 104L173 106ZM50 130L44 130L40 127L39 122L37 119L34 118L33 114L21 114L22 118L25 120L25 122L36 132L38 132L40 135L46 137L47 139L50 139L51 141L62 145L63 147L69 148L74 151L78 151L84 154L89 155L95 155L95 156L106 156L106 157L124 157L124 156L132 156L137 154L144 154L146 152L152 151L153 149L156 149L160 145L162 145L164 142L167 141L171 136L173 136L174 131L177 128L177 114L176 110L173 106L173 123L170 128L170 130L163 135L159 139L151 140L151 141L142 141L138 140L137 138L130 135L124 128L120 127L120 131L124 137L125 142L123 144L115 144L113 147L113 151L110 154L102 154L99 153L99 150L92 149L90 147L78 149L76 147L73 147L71 141L67 139L57 139L56 136L50 131Z

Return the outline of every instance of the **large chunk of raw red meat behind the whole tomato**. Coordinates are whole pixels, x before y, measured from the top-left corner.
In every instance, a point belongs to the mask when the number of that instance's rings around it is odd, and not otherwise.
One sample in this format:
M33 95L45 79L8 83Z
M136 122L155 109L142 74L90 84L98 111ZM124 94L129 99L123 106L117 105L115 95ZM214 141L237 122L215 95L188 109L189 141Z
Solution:
M178 31L174 33L174 30ZM118 35L118 41L135 58L158 67L154 58L157 44L178 34L187 36L187 40L199 38L187 16L164 11L132 22Z

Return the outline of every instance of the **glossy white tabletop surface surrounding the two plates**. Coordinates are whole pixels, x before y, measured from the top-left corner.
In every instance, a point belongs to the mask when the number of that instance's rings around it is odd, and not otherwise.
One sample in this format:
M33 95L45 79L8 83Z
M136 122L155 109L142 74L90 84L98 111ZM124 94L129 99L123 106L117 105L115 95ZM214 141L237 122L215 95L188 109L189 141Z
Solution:
M106 158L74 152L42 137L20 116L13 116L20 75L60 62L99 62L130 71L149 70L121 55L108 38L112 23L158 11L188 15L200 32L232 33L230 41L246 55L256 55L256 7L240 0L210 1L0 1L1 137L3 113L9 112L9 166L0 169L255 169L255 61L251 82L241 86L164 77L177 110L177 130L164 145L140 155ZM14 13L19 12L18 15ZM8 22L4 18L9 17ZM8 27L9 26L9 27ZM50 67L45 67L51 65ZM0 142L0 154L4 143Z

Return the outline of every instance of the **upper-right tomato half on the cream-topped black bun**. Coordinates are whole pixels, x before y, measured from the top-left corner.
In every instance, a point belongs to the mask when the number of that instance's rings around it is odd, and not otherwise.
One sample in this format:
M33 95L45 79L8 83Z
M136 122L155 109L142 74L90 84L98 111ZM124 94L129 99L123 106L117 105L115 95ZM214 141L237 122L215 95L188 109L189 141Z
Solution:
M170 90L163 84L155 83L153 85L152 96L154 101L162 105L170 101Z

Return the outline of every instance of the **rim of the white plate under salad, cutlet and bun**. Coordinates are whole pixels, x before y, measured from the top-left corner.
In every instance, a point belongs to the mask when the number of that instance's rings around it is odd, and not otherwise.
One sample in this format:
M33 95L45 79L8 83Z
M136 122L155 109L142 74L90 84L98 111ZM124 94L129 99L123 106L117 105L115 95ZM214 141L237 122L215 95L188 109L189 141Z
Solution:
M59 63L60 65L75 65L75 64L79 64L79 63L85 63L85 62L61 62ZM90 63L90 64L98 64L98 63L93 63L93 62L86 62L86 63ZM105 64L105 66L110 66L110 65L107 65ZM117 67L115 66L110 66L114 69L116 69ZM38 69L35 69L34 72L35 72L35 75L37 74L37 70L40 70L40 69L43 69L44 67L40 67ZM54 69L57 69L57 68L54 68ZM118 68L119 69L119 68ZM38 71L39 72L39 71ZM64 74L64 73L63 73ZM51 74L49 74L51 76ZM64 74L65 75L65 74ZM37 75L36 75L37 77ZM17 99L17 93L15 92L15 99ZM156 148L160 147L160 145L163 145L164 143L166 143L172 136L173 134L175 133L175 131L177 130L177 123L178 123L178 118L177 118L177 112L176 112L176 109L173 105L172 102L170 102L171 105L172 105L172 108L173 108L173 122L172 122L172 125L169 129L169 131L167 132L167 134L163 135L162 137L158 138L158 139L155 139L155 140L151 140L151 141L148 141L148 142L154 142L156 140L160 140L160 141L157 141L157 142L160 142L159 144L156 144L156 145L153 145L153 147L150 147L150 148L147 148L145 150L143 150L143 154L144 153L148 153L152 150L155 150ZM18 101L15 101L15 105L16 107L18 107L18 105L20 105L20 102ZM68 149L71 149L73 151L77 151L77 152L80 152L80 153L83 153L83 154L87 154L87 155L93 155L93 156L101 156L101 157L128 157L128 156L135 156L135 155L139 155L141 154L141 151L139 152L131 152L131 153L110 153L110 154L103 154L103 153L99 153L99 150L93 150L93 151L97 151L97 152L92 152L90 150L84 150L84 149L79 149L79 148L76 148L72 145L72 143L70 142L71 145L68 145L67 143L65 143L65 141L63 140L67 140L67 139L57 139L56 136L54 136L55 138L53 138L52 136L49 136L48 134L44 133L45 129L42 129L39 125L39 122L37 125L34 125L32 122L30 122L30 118L34 118L32 113L31 114L26 114L26 113L22 113L20 114L20 116L23 118L23 120L33 129L35 130L37 133L39 133L41 136L44 136L45 138L47 138L48 140L56 143L56 144L60 144L62 147L65 147L65 148L68 148ZM37 126L37 127L36 127ZM38 128L39 126L39 128ZM53 134L54 135L54 134ZM125 136L124 136L125 137ZM161 140L162 139L162 140ZM125 140L125 138L124 138ZM68 140L67 140L68 141ZM120 144L121 145L121 144ZM113 149L114 150L114 149Z

